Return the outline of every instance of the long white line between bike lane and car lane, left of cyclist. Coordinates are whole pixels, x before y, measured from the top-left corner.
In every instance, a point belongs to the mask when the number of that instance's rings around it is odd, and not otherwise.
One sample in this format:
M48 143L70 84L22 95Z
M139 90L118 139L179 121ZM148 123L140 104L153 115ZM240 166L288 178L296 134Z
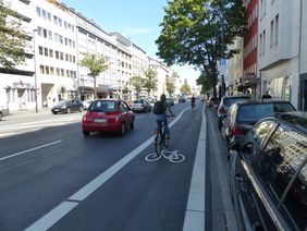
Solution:
M188 110L188 108L184 109L179 117L176 117L175 120L173 120L170 123L170 127L173 126L182 117L182 114ZM124 158L119 160L116 163L114 163L112 167L110 167L108 170L102 172L100 175L95 178L93 181L90 181L88 184L86 184L84 187L82 187L79 191L77 191L75 194L70 196L69 200L78 200L82 202L87 196L89 196L93 192L95 192L98 187L100 187L106 181L108 181L113 174L115 174L119 170L121 170L125 165L127 165L133 158L135 158L138 154L140 154L147 146L149 146L152 141L154 136L148 138L146 142L144 142L142 145L139 145L137 148L132 150L128 155L126 155ZM63 202L65 203L65 202ZM62 203L62 204L63 204ZM75 207L75 206L74 206ZM63 218L66 214L69 214L74 207L71 209L65 210L65 214L63 212L63 209L60 206L57 206L51 211L49 211L47 215L45 215L42 218L34 222L30 227L26 229L26 231L36 231L36 230L48 230L51 228L54 223L57 223L61 218ZM60 215L60 216L54 216ZM57 218L57 219L56 219ZM37 229L40 228L40 229Z

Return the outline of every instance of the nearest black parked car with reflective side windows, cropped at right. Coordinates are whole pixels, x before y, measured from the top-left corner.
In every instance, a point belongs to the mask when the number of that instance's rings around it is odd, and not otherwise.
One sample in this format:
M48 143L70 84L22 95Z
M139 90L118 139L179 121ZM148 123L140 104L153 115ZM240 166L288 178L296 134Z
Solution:
M238 230L307 230L306 112L261 119L232 148Z

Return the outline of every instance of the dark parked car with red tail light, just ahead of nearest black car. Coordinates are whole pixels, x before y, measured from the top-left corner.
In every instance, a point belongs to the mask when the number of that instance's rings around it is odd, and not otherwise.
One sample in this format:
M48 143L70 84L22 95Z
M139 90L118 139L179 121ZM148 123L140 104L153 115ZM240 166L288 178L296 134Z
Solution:
M228 117L222 121L222 137L228 147L231 144L241 144L246 132L260 119L274 115L278 112L295 111L288 101L241 101L232 105Z

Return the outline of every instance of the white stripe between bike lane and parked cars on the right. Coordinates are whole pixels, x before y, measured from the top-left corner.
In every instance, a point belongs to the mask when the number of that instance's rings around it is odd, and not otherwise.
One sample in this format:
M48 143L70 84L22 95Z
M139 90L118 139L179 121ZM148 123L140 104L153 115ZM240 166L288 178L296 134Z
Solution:
M205 230L206 153L204 150L206 151L205 111L202 113L196 157L194 160L183 231Z

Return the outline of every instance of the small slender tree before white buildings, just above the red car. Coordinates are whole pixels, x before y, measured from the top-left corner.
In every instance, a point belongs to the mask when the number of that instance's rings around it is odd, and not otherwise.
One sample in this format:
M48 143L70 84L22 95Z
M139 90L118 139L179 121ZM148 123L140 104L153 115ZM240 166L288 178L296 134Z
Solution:
M94 78L94 89L95 89L95 98L97 97L97 86L96 78L99 74L108 69L108 64L106 62L105 57L97 56L96 53L85 52L84 57L79 61L81 66L88 68L89 76Z

